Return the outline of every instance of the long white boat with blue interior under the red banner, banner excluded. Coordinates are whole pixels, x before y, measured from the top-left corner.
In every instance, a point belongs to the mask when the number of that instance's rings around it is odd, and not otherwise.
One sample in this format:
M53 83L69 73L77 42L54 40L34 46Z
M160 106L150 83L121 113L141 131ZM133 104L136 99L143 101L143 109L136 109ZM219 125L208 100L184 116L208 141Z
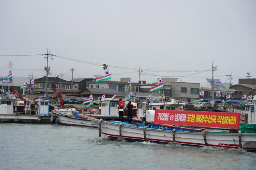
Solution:
M253 101L255 107L256 96L254 96ZM164 111L166 110L162 110L162 112ZM219 113L216 112L216 114ZM237 119L240 118L239 113L233 114L236 115ZM253 114L256 114L255 111ZM248 151L256 151L256 133L254 130L256 124L253 124L254 122L250 117L248 117L248 124L240 125L239 129L225 128L219 130L214 128L185 128L180 126L156 124L154 122L129 124L120 121L105 121L90 115L86 115L84 117L90 119L97 127L99 127L100 134L102 133L110 137L164 143L176 142L182 145L192 146L212 146L232 149L243 148ZM236 123L238 121L238 127L239 120L236 120Z

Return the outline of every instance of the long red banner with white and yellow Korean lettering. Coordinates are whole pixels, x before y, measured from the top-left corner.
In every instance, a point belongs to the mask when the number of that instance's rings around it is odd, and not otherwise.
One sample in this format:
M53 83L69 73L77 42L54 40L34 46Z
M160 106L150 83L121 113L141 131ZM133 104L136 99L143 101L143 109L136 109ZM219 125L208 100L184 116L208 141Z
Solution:
M155 123L194 127L239 128L240 113L156 109Z

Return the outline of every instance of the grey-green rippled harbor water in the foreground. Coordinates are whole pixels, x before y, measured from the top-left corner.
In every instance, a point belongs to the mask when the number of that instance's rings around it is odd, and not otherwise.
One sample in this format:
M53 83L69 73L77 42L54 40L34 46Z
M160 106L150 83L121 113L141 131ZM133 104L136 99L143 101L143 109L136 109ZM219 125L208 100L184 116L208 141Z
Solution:
M256 153L117 141L97 128L0 123L1 170L256 169Z

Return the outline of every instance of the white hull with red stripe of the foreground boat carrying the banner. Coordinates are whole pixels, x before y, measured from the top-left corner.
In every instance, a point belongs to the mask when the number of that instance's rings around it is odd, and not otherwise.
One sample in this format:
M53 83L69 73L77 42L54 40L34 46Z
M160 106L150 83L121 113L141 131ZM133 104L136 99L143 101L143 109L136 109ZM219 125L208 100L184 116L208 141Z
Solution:
M93 123L100 127L100 121L93 117L88 117ZM101 132L106 136L120 137L120 125L102 121ZM171 130L146 128L146 140L152 142L174 142ZM133 140L144 140L144 128L122 125L122 138ZM237 133L206 133L206 142L202 132L182 132L175 131L175 142L182 145L212 146L220 148L240 149L239 135ZM248 151L256 150L256 134L242 134L242 148Z

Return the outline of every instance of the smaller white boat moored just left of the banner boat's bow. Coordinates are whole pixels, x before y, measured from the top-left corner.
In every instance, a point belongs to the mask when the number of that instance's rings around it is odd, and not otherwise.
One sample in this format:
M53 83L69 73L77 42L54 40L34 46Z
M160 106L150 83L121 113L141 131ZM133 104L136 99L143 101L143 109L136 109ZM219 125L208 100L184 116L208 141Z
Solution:
M67 126L83 126L83 127L97 127L92 121L89 119L81 119L76 118L74 116L65 115L58 111L52 111L54 115L58 116L60 124L67 125Z

